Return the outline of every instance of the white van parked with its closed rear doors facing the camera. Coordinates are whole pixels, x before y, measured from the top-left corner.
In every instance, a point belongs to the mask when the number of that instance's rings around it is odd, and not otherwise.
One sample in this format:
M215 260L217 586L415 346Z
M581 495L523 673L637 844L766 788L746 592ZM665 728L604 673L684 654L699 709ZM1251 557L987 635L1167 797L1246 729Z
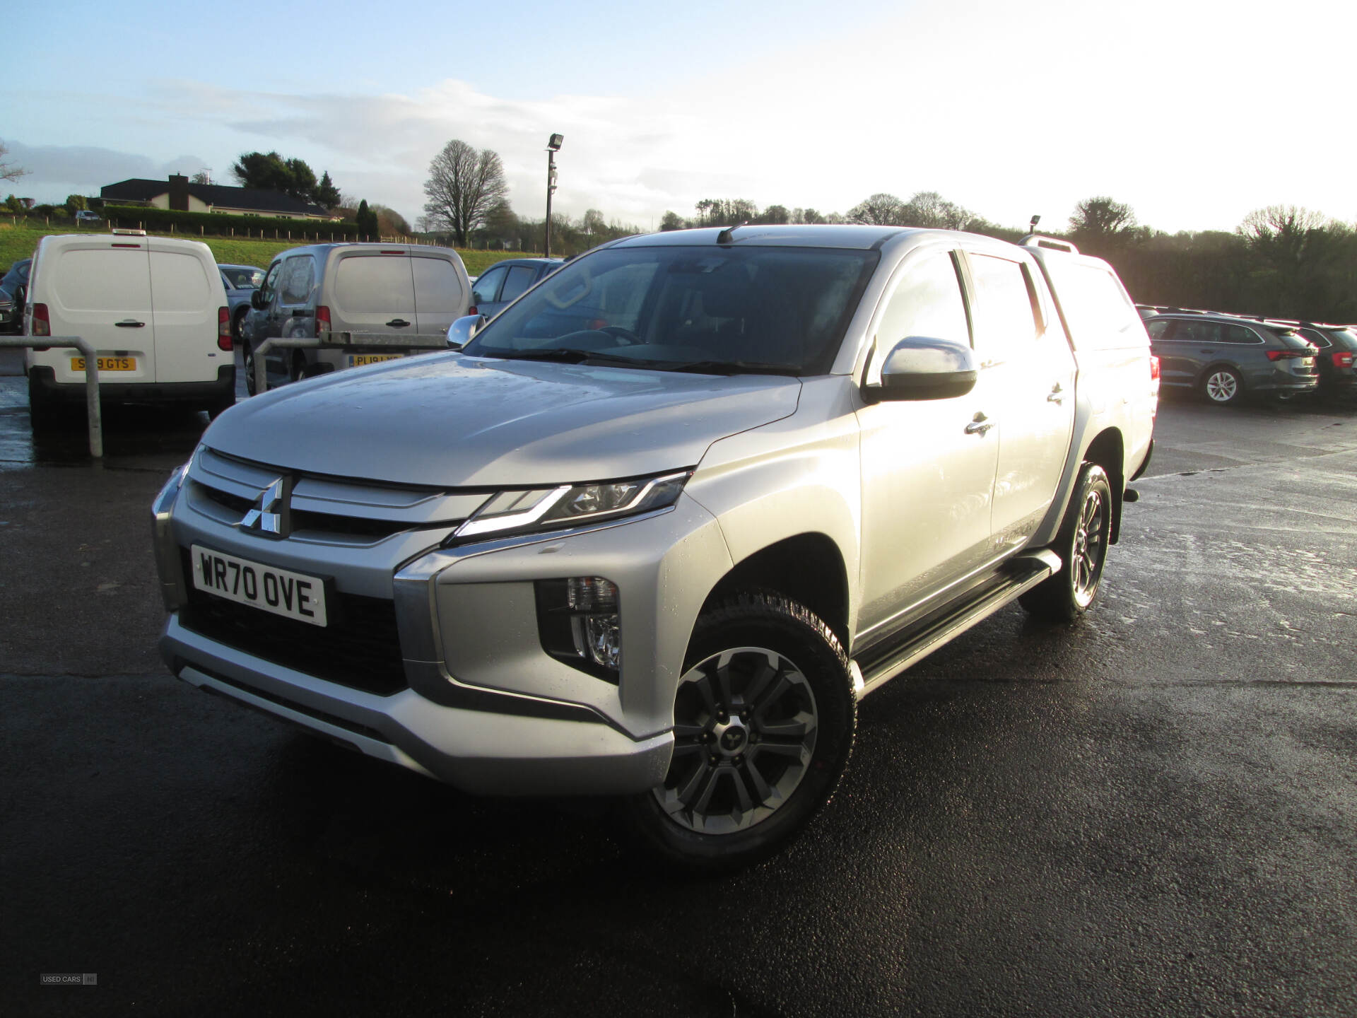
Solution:
M216 415L235 403L236 368L221 273L206 244L142 231L45 236L33 255L30 337L79 335L99 352L104 402L178 403ZM24 354L35 428L84 402L84 357Z

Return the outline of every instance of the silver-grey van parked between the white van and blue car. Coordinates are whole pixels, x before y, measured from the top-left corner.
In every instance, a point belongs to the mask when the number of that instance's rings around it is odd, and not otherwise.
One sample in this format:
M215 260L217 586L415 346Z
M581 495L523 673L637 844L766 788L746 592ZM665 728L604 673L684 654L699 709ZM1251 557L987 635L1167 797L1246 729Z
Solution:
M423 244L309 244L284 251L250 299L246 387L255 392L254 352L271 337L313 338L324 333L441 335L467 314L471 285L451 247ZM270 387L399 358L400 353L342 349L266 354Z

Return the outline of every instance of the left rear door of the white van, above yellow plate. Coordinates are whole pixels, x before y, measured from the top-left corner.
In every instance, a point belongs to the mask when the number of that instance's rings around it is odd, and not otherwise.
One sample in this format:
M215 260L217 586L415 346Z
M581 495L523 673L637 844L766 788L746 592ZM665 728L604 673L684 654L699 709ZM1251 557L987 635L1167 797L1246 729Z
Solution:
M103 361L102 381L156 380L155 324L151 315L151 269L147 238L53 238L42 258L39 281L46 293L53 335L79 335L94 343ZM54 258L52 255L56 255ZM38 300L38 295L30 297ZM84 381L79 350L53 350L54 380Z

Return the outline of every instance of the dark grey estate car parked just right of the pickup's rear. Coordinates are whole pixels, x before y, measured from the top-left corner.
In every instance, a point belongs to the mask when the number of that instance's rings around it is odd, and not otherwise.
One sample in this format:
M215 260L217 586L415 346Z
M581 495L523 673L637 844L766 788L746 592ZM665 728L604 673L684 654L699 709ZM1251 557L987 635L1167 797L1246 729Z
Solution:
M1296 328L1235 315L1175 312L1145 320L1160 383L1225 406L1247 394L1281 399L1319 385L1315 347Z

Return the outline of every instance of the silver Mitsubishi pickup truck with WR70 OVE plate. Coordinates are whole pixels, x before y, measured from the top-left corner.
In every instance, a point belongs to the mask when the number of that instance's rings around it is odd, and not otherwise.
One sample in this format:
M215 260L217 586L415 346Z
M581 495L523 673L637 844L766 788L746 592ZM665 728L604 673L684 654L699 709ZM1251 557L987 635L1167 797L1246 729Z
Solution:
M237 404L153 505L179 679L692 867L794 836L858 702L1098 592L1158 373L1105 262L882 227L627 238L460 352Z

